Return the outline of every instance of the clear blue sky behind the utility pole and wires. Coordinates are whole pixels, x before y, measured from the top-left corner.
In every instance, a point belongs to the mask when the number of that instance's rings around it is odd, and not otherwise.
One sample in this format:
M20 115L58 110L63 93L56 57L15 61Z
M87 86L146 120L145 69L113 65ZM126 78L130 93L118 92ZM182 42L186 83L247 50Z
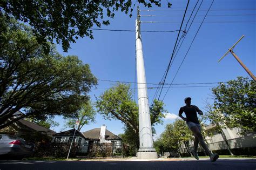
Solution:
M164 23L142 23L141 30L178 30L187 1L169 0L169 2L172 3L171 9L168 9L166 1L163 1L161 8L152 8L161 11L142 11L141 15L161 15L161 17L142 17L141 21L161 21ZM196 2L195 0L190 1L188 9L193 9ZM200 25L199 22L203 19L200 16L205 15L211 2L206 0L203 2L198 12L199 16L196 17L174 60L166 83L171 83ZM206 17L205 23L201 26L173 83L220 82L235 79L238 76L248 76L231 54L227 55L220 63L217 62L242 35L245 37L235 47L234 52L255 74L255 8L256 1L254 0L215 0L212 10L208 13L209 16ZM146 8L140 5L140 9ZM185 23L191 10L187 12ZM136 17L136 8L134 8L131 18L122 12L117 12L116 17L110 19L111 24L102 26L102 29L134 30ZM169 63L177 35L178 32L142 32L147 83L160 82ZM76 55L84 63L89 64L92 73L98 79L133 82L136 57L135 32L93 31L93 36L94 39L92 40L87 37L79 38L75 44L71 45L68 53L64 53L60 45L57 45L57 49L64 56ZM112 85L113 83L110 82L98 81L97 89L89 93L91 100L95 101L95 96L99 96ZM133 84L131 86L134 87ZM148 85L148 87L152 86ZM147 92L151 103L156 90L149 89ZM166 89L163 90L160 99L163 98L165 92ZM137 90L135 95L137 101ZM168 113L177 115L179 108L184 105L184 98L191 97L192 104L203 110L204 101L210 98L210 95L211 87L171 88L164 99L165 109ZM173 114L169 114L164 119L163 125L155 126L156 136L164 131L166 124L173 122L175 118ZM58 121L60 126L54 127L54 130L56 132L62 131L63 119L56 117L55 121ZM100 127L103 124L107 126L107 130L114 134L123 133L122 127L124 125L119 120L104 120L99 114L96 116L96 123L85 125L82 132Z

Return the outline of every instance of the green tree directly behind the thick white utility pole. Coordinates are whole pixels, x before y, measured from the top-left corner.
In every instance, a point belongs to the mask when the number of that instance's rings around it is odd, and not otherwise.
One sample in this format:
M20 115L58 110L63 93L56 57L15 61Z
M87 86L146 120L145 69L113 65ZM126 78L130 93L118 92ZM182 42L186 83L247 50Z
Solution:
M110 89L101 94L96 101L98 112L105 119L120 120L125 125L125 134L128 134L131 140L136 141L139 147L139 115L138 105L132 99L130 85L117 83ZM151 125L161 124L164 118L164 103L154 100L150 107ZM132 131L132 132L131 132ZM154 129L152 128L152 132Z

